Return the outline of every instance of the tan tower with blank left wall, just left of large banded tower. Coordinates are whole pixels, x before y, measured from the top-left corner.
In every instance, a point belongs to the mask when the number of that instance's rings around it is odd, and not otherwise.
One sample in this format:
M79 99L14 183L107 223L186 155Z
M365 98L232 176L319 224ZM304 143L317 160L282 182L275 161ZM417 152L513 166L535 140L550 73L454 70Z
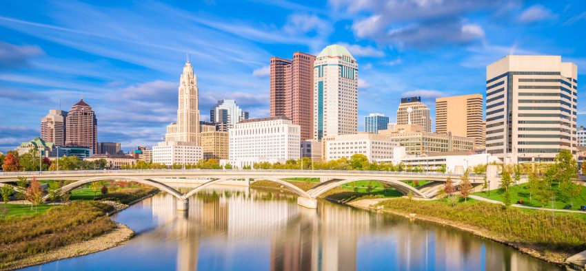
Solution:
M482 147L482 94L436 98L436 133L474 138L474 145Z

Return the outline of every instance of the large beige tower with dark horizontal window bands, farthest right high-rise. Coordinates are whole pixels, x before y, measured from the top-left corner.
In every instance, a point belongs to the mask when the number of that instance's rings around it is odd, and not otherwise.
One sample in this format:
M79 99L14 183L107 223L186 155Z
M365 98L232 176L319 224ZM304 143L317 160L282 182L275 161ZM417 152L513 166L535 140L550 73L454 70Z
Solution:
M486 68L486 149L504 162L576 153L578 67L561 56L505 56Z

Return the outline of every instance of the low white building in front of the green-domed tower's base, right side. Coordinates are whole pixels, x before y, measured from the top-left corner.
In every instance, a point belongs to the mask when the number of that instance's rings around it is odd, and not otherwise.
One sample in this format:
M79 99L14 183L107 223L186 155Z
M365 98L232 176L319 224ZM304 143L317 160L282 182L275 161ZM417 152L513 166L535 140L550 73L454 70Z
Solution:
M396 162L405 155L405 147L399 147L399 143L392 141L390 136L374 133L338 135L325 140L324 145L327 161L340 158L350 159L354 154L363 154L370 162Z

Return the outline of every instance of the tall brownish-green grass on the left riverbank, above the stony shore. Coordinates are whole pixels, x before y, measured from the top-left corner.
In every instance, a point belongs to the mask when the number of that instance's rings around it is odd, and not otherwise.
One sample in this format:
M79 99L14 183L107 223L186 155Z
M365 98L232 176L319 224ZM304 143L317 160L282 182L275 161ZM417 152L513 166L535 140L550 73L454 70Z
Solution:
M112 210L108 204L79 201L50 208L43 215L1 220L0 268L109 232L116 223L105 213Z

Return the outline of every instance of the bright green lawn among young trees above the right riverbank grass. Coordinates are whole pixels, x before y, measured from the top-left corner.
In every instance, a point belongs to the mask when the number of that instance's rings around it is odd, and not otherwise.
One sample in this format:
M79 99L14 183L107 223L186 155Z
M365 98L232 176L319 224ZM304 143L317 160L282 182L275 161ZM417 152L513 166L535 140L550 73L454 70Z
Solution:
M557 191L558 184L554 183L554 189ZM525 206L532 206L532 207L544 207L544 208L552 208L552 203L547 202L545 206L542 206L540 202L538 202L535 197L532 197L532 200L529 201L529 188L528 184L519 184L516 186L510 186L509 191L511 192L511 201L512 203L516 203L519 199L523 199L523 205ZM498 200L500 202L503 201L503 193L505 193L504 189L496 189L490 191L490 196L488 196L487 192L478 192L472 195L477 195L480 197L486 197L488 199ZM557 193L557 192L556 192ZM559 198L559 197L558 197ZM569 205L567 202L561 202L559 199L554 202L554 209L563 209L564 206ZM574 198L574 206L572 206L572 210L580 210L580 206L586 205L586 187L582 189L580 195Z

